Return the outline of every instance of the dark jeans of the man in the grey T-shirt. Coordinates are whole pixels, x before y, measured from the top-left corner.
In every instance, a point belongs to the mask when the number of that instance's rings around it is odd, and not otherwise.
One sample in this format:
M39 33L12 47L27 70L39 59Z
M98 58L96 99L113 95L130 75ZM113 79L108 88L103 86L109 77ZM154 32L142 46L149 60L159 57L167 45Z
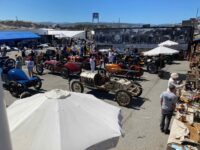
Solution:
M162 131L169 130L169 125L170 125L170 121L171 121L172 115L173 115L173 112L169 113L169 114L162 113L161 122L160 122L160 129Z

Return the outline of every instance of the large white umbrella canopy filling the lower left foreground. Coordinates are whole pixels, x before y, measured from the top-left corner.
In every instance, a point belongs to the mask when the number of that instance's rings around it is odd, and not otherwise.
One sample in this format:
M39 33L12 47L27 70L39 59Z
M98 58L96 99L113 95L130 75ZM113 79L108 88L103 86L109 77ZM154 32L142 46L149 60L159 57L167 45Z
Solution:
M83 150L121 135L120 109L89 94L52 90L7 113L14 150Z

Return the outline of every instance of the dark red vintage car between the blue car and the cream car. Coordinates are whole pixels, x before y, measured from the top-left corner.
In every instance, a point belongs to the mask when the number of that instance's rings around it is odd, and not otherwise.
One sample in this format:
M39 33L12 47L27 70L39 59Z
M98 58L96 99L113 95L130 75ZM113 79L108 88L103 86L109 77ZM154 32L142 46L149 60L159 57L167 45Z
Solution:
M68 78L72 74L81 73L81 63L77 62L60 62L56 60L48 60L44 62L44 67L52 73L60 73L63 78Z

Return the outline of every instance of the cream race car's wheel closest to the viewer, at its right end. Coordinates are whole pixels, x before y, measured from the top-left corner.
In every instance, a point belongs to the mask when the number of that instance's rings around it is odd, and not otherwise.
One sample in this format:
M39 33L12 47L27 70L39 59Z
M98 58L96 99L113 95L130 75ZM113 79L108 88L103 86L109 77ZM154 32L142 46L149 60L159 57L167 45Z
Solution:
M115 100L120 106L128 106L132 100L132 96L125 90L119 90L115 94Z

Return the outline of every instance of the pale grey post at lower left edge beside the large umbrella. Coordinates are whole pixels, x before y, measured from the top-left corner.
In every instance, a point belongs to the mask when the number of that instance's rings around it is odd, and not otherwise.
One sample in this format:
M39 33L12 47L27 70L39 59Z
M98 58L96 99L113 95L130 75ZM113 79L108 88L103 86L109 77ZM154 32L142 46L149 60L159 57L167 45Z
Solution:
M12 150L6 107L3 100L3 89L1 80L0 80L0 150Z

